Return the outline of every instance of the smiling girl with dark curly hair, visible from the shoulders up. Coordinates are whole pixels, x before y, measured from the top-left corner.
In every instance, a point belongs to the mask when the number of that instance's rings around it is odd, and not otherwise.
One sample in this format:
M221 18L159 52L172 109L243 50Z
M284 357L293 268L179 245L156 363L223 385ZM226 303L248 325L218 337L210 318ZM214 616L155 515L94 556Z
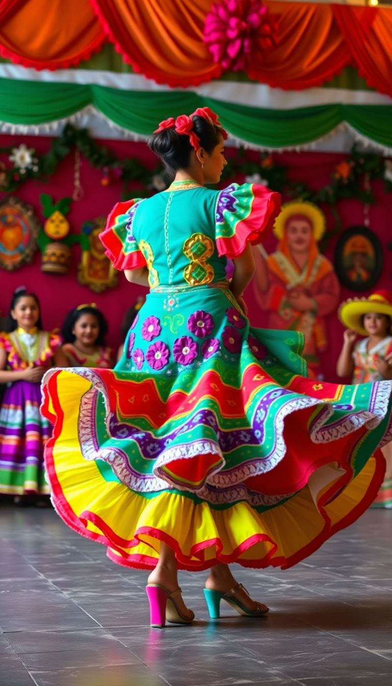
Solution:
M113 351L105 346L107 331L108 322L95 303L71 309L61 330L67 366L111 369Z

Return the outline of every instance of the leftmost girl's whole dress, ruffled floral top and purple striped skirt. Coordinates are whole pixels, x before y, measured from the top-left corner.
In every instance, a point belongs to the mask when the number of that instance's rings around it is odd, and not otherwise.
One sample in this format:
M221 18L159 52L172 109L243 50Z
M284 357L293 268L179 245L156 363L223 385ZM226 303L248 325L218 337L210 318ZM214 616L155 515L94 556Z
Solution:
M61 338L48 331L17 329L0 333L8 353L8 370L51 366ZM7 384L0 410L0 493L49 493L43 469L43 449L51 425L40 412L41 386L30 381Z

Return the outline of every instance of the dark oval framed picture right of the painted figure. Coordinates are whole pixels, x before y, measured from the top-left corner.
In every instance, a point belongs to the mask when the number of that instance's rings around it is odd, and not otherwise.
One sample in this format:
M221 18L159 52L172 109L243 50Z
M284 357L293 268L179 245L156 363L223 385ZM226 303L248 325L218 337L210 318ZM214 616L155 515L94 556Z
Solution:
M382 246L366 226L350 226L339 236L335 250L339 281L352 291L373 288L382 271Z

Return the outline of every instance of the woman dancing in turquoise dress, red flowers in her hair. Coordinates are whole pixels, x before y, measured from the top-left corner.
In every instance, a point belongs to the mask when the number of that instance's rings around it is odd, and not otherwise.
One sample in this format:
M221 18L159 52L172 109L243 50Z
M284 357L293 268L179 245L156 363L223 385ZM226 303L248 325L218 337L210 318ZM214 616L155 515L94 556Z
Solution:
M192 622L177 568L209 570L211 617L221 600L264 615L228 563L287 568L354 521L382 482L390 430L391 382L355 394L307 379L300 331L250 327L251 244L280 199L261 185L205 188L226 137L209 108L152 134L174 181L117 204L102 234L115 267L150 288L126 352L115 370L43 380L56 510L119 565L150 570L152 626Z

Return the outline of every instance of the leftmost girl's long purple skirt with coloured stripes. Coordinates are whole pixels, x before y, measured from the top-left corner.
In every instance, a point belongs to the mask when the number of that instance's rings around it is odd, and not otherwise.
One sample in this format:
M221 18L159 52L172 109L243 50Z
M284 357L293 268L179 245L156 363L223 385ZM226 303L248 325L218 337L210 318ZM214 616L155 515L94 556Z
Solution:
M15 381L0 410L0 493L49 493L43 449L51 426L40 412L41 385Z

